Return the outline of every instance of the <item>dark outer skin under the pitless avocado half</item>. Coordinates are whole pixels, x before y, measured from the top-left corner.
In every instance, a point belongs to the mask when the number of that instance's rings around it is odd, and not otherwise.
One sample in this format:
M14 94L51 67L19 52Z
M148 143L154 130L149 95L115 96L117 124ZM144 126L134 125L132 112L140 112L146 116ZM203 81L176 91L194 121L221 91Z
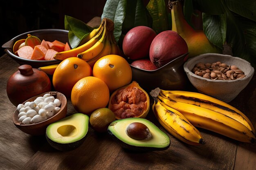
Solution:
M74 150L74 149L78 148L81 144L83 144L83 141L86 138L86 135L85 135L82 139L72 142L70 144L60 144L58 142L55 142L55 141L52 141L51 139L49 139L49 137L47 137L47 135L45 135L45 136L46 136L46 140L48 141L50 146L52 146L53 148L60 150L60 151Z

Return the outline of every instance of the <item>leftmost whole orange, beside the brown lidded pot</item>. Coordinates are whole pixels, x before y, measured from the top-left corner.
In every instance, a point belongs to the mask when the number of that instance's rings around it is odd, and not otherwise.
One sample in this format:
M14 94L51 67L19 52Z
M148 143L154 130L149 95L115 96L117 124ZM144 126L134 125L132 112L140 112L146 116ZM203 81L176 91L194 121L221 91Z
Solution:
M58 64L52 77L52 84L56 91L70 97L76 82L92 75L92 68L84 60L78 57L70 57Z

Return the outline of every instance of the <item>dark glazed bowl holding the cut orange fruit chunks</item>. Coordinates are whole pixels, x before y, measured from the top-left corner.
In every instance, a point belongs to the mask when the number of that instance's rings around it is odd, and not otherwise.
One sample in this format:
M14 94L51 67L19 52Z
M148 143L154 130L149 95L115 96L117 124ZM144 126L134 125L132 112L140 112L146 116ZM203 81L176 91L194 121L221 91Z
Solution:
M27 34L34 35L38 37L40 40L45 40L45 41L54 41L58 40L63 43L68 42L68 31L62 30L62 29L40 29L40 30L35 30L35 31L29 31L27 33L22 33L10 41L6 42L5 44L2 45L2 48L4 48L5 53L9 55L13 60L18 62L18 64L23 65L23 64L28 64L31 65L33 68L38 68L41 66L48 66L52 64L57 64L60 63L60 60L29 60L25 59L22 57L19 57L14 54L13 52L13 45L17 40L21 39L26 39Z

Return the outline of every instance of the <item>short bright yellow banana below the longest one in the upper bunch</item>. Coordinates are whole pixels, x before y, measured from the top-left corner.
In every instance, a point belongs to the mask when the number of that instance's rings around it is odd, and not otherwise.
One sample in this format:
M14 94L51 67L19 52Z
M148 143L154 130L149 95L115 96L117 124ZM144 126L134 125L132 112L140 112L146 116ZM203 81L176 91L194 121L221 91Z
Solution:
M93 59L94 57L96 57L97 55L99 55L99 53L104 48L104 42L105 42L107 35L108 35L108 30L106 28L106 22L105 22L101 39L99 41L97 41L90 49L87 49L87 50L83 51L82 53L79 53L77 55L77 57L79 57L85 61L89 61L89 60Z

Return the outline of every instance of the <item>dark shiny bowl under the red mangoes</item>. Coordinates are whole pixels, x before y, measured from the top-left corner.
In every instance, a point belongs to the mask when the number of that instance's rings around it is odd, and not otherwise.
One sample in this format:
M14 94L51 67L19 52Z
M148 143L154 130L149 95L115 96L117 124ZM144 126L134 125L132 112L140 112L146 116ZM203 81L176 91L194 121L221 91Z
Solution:
M154 71L143 70L130 65L132 68L132 80L139 83L139 86L147 92L157 87L163 90L184 90L189 82L183 70L187 54L177 57Z

